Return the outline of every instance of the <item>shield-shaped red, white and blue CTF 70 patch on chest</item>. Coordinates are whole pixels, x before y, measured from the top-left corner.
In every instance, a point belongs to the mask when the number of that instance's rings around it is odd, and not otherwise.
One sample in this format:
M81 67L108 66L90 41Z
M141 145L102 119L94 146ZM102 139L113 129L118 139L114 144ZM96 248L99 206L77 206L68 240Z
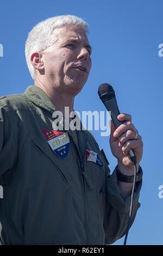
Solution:
M41 129L51 149L61 158L66 158L70 150L70 140L67 132L48 131Z

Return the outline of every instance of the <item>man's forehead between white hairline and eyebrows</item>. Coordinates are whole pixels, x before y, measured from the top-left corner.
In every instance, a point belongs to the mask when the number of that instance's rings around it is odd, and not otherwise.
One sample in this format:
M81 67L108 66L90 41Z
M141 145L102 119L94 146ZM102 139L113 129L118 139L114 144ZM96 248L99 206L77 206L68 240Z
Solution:
M83 40L87 43L89 42L84 30L82 28L74 26L74 25L56 28L54 30L54 33L57 38L57 41L76 39L76 40Z

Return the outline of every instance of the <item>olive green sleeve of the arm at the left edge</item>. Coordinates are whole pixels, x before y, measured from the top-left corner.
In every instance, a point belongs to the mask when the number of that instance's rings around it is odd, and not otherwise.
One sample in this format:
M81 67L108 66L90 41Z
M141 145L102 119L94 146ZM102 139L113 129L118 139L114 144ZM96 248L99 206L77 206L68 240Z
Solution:
M8 112L0 102L0 178L14 168L17 161L17 147L14 131L9 121Z

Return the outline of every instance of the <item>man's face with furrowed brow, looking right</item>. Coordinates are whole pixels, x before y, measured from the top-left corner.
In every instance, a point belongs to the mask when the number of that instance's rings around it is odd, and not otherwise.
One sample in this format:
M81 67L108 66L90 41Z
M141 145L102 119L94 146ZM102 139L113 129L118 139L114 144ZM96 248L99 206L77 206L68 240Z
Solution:
M82 90L91 69L91 47L83 29L74 25L57 28L57 41L42 59L45 77L60 93L76 95Z

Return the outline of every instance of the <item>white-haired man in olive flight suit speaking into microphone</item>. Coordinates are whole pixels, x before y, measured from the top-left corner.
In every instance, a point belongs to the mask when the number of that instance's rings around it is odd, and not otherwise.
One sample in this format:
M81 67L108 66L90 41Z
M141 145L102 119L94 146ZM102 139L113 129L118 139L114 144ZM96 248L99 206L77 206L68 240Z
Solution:
M126 233L134 174L142 140L129 114L115 130L110 147L118 164L112 175L108 161L86 130L53 129L55 111L73 110L74 96L91 69L87 25L75 16L47 19L29 33L27 64L34 86L22 95L0 99L0 199L5 245L103 245ZM120 177L120 176L118 176ZM130 177L129 177L130 178ZM132 177L131 177L132 178ZM134 193L134 221L141 179Z

